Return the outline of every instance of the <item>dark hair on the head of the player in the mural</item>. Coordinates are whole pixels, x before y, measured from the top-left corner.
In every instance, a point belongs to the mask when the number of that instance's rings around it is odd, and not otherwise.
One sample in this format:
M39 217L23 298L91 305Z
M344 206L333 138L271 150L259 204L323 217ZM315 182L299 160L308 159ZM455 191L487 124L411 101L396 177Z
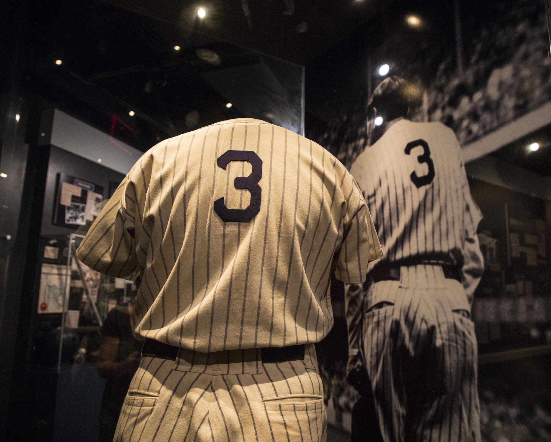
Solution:
M407 82L403 78L385 78L375 88L368 102L368 117L382 116L386 121L408 115Z

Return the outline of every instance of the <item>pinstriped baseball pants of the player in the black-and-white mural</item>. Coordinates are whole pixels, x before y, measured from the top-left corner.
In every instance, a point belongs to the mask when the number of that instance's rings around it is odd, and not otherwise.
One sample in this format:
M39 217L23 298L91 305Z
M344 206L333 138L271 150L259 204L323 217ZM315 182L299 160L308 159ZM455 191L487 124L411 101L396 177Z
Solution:
M480 441L477 343L463 286L402 267L364 304L364 363L385 442Z

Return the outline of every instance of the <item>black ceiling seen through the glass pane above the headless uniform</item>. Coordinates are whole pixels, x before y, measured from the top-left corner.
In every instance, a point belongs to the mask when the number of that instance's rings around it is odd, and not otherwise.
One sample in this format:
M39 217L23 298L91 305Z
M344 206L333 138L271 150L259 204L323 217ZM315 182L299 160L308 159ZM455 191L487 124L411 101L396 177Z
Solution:
M26 86L101 130L111 130L116 118L122 124L111 134L142 150L239 116L281 124L289 108L300 108L286 100L300 100L302 67L204 34L196 8L191 13L195 25L183 28L99 0L34 2ZM251 85L248 95L236 95L240 78ZM300 112L292 116L300 123Z

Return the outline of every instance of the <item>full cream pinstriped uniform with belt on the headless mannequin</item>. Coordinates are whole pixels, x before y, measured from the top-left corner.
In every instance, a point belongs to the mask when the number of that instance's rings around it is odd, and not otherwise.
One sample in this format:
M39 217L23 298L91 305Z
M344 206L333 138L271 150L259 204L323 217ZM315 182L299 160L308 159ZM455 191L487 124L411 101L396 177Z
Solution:
M147 338L116 441L322 441L314 343L333 324L331 273L382 256L352 175L283 127L235 119L154 146L77 251L140 274Z

